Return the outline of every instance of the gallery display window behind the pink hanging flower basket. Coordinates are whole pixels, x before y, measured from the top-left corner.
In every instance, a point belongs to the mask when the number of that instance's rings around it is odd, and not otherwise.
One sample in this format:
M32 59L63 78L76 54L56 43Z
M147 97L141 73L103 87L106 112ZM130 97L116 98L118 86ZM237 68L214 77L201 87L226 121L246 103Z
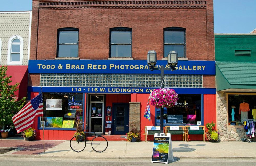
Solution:
M164 108L165 125L197 125L201 122L201 94L179 94L177 105ZM156 108L156 125L160 125L160 108Z

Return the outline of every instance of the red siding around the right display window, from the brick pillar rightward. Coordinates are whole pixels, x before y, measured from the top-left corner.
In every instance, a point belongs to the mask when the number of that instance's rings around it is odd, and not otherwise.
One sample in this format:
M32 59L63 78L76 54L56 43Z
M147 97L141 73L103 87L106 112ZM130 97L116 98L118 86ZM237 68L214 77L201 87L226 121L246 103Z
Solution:
M144 116L145 108L147 106L149 94L131 94L131 102L140 102L140 134L141 140L145 140L144 128L145 126L155 125L155 107L150 105L151 110L151 121L146 119ZM204 94L204 126L208 122L216 122L216 95L215 94ZM153 140L153 135L148 136L148 140ZM182 140L181 135L172 135L172 140ZM202 136L200 135L190 135L189 140L199 140L202 141Z

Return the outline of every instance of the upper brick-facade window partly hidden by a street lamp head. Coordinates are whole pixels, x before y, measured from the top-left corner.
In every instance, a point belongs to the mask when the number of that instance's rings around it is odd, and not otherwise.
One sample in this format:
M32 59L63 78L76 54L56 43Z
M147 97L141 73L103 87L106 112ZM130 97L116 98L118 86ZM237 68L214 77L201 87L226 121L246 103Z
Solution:
M170 51L176 51L178 57L186 57L186 31L184 28L170 27L164 28L164 57Z

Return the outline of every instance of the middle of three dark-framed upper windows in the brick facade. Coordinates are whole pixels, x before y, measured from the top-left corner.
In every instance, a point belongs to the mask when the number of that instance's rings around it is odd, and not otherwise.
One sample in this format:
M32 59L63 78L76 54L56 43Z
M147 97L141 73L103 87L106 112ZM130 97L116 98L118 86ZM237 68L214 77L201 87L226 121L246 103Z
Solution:
M110 57L132 57L132 29L110 29Z

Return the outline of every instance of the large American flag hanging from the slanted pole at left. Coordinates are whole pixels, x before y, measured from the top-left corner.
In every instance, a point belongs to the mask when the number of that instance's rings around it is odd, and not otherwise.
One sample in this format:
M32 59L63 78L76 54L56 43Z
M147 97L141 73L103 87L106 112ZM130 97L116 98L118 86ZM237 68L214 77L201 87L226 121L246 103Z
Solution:
M17 133L31 127L34 123L35 117L42 116L43 112L43 95L40 93L12 117Z

